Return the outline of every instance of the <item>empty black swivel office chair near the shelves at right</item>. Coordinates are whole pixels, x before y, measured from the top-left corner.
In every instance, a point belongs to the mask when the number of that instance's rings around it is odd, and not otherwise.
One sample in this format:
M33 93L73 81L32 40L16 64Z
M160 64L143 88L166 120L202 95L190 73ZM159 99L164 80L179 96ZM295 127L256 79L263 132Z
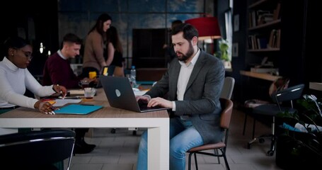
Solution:
M272 133L269 135L260 135L259 137L253 138L250 142L248 142L248 149L251 149L251 145L253 145L253 142L256 140L259 140L260 143L265 142L263 137L271 137L271 144L270 144L270 150L267 152L268 156L272 156L275 152L275 115L280 112L288 111L289 113L294 113L297 111L293 108L293 102L294 100L301 97L301 94L304 89L304 84L299 84L297 86L292 86L287 89L276 91L271 95L272 101L274 104L264 104L257 106L253 108L253 115L268 115L272 116ZM287 102L288 101L288 102ZM286 103L289 103L289 105L285 105ZM255 129L255 124L254 127Z

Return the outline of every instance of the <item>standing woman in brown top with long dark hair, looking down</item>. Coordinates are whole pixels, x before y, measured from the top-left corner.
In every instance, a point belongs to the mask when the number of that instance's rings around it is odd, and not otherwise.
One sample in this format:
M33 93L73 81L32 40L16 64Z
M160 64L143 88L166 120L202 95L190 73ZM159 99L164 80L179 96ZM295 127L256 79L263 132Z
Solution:
M88 72L100 74L101 69L107 66L104 56L104 41L106 31L110 28L112 18L107 14L101 14L95 26L88 32L84 47L83 72L81 77L88 77Z

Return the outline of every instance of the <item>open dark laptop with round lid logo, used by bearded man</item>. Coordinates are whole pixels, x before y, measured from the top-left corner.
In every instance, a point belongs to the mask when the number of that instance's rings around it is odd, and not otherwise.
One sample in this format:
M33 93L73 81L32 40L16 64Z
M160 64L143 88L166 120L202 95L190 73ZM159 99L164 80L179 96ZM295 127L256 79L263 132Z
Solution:
M110 103L110 106L114 108L122 108L141 113L168 109L160 106L148 108L146 103L138 103L127 77L100 76L100 83L102 84L105 95L108 98L108 103Z

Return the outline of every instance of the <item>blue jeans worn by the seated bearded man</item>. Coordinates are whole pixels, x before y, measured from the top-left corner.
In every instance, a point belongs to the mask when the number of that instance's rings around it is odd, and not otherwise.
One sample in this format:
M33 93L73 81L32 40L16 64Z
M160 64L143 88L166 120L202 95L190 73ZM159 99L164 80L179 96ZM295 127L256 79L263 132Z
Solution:
M192 147L203 145L199 132L190 120L170 119L170 170L185 170L185 152ZM147 132L139 143L137 170L147 169Z

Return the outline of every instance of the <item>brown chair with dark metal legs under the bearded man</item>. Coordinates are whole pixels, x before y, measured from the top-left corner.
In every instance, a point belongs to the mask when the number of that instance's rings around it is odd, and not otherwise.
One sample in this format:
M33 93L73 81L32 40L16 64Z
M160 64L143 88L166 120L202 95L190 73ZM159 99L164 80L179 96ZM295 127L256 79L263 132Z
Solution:
M197 164L197 154L204 154L218 158L218 164L220 164L219 157L224 157L224 162L226 164L226 169L229 168L229 164L226 159L226 147L229 135L229 125L231 120L231 113L233 112L234 103L227 98L220 98L220 104L222 106L222 115L220 117L220 127L224 130L224 137L221 142L209 143L206 145L201 145L199 147L193 147L187 152L189 153L188 159L188 169L191 169L191 156L195 156L195 168L198 169ZM214 150L214 153L207 152L209 150ZM220 153L219 153L220 151Z

